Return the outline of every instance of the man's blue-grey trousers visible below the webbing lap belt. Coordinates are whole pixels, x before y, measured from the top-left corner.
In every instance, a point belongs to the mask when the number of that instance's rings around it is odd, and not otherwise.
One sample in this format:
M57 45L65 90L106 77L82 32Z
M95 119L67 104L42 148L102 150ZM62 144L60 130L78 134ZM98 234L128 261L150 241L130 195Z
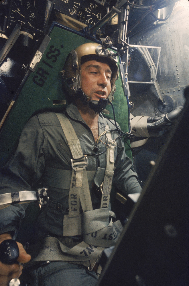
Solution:
M20 280L20 285L27 286L95 286L98 279L96 273L88 271L86 267L53 261L48 265L23 270Z

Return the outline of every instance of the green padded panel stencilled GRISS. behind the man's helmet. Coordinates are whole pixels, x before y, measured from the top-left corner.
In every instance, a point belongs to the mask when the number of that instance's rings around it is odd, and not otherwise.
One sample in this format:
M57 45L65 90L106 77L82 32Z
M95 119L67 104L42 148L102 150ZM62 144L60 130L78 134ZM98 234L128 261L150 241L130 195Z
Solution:
M62 25L56 24L50 33L50 43L38 64L35 72L31 72L9 112L0 134L0 166L3 166L13 154L21 131L31 116L50 110L59 111L66 105L53 105L52 100L64 100L61 86L61 74L64 61L70 50L90 42L81 35L67 31ZM114 95L116 121L124 132L128 131L127 100L123 93L121 78L116 85ZM113 118L111 106L110 118ZM129 143L129 142L128 142ZM130 148L126 152L131 157Z

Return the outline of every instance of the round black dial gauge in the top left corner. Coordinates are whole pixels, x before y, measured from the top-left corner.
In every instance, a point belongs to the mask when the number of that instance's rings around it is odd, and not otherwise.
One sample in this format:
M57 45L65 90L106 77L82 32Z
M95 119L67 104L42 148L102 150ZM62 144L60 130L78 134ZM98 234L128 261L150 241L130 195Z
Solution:
M33 27L38 18L38 10L29 1L13 0L10 7L10 25L20 20Z

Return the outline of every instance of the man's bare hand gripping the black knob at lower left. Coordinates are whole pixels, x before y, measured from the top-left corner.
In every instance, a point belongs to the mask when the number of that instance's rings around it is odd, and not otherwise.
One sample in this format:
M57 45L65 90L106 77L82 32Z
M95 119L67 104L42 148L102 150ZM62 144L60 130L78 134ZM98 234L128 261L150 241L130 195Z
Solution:
M12 239L12 237L9 233L1 234L0 243L3 242L5 239ZM17 261L19 263L26 263L30 261L31 256L26 253L22 244L17 242L17 245L19 248L19 257ZM17 263L8 265L0 261L0 286L8 286L11 279L19 278L22 273L22 269L23 269L23 266Z

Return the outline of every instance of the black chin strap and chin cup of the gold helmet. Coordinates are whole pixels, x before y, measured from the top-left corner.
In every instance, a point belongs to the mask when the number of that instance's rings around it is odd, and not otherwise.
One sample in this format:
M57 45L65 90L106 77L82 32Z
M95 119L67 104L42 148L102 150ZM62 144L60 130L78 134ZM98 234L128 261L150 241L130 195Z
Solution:
M92 110L94 110L94 112L96 113L100 113L102 112L109 100L108 99L105 99L105 98L100 98L100 100L88 100L88 96L86 94L84 94L84 92L79 89L78 92L77 92L77 98L80 99L80 101L82 102L83 105L88 105Z

